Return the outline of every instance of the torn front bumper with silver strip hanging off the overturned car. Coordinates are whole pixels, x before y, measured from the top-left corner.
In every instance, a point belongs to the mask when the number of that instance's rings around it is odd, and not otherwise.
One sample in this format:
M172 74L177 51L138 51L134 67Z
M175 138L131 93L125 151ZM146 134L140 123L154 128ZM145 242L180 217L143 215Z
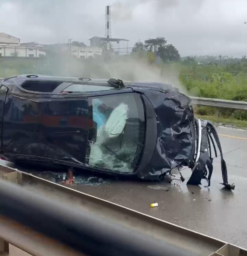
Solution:
M217 147L220 151L220 156L221 156L221 171L222 171L222 178L223 178L223 183L221 184L223 184L228 189L234 190L235 185L228 184L227 167L223 158L219 136L215 130L214 125L209 121L204 121L200 119L197 121L198 121L197 123L198 123L198 137L199 137L198 147L197 147L197 157L196 157L194 167L192 168L191 177L189 178L187 184L199 185L201 184L202 179L206 179L208 182L208 187L210 186L210 180L213 172L213 158L211 157L211 153L209 155L208 149L211 148L211 145L210 145L211 142L215 148L215 144L211 136L212 134L217 144ZM208 139L208 137L210 138L211 141ZM216 152L216 148L215 148L215 152ZM217 156L217 153L215 155Z

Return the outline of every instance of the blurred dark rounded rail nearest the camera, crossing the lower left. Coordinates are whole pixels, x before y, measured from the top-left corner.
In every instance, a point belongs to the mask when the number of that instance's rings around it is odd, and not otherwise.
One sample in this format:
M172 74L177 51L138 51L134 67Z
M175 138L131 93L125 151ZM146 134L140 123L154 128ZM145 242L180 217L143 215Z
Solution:
M193 255L166 241L2 180L0 215L87 255Z

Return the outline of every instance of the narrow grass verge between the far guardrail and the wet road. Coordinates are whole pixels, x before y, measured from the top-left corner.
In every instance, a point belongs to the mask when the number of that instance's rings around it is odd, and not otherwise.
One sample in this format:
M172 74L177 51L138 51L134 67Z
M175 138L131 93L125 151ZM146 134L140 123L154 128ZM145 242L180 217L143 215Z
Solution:
M221 118L221 117L210 116L210 115L197 115L197 114L195 114L195 116L197 118L209 120L209 121L213 122L214 124L227 124L227 125L233 125L237 128L247 129L247 121L245 121L245 120Z

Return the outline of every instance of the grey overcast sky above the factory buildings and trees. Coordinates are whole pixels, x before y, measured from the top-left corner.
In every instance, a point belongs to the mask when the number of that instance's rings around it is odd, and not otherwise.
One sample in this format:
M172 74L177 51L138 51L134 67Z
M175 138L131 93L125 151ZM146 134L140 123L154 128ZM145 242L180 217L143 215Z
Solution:
M163 36L181 56L247 55L247 0L0 0L0 32L21 42L89 45L105 36L106 5L112 37L130 46Z

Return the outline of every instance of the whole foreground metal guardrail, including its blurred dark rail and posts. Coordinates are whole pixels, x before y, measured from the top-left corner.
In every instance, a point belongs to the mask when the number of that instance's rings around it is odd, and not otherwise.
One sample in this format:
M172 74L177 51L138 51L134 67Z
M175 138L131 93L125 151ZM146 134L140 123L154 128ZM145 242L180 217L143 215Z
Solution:
M0 165L0 177L16 183L0 181L0 255L247 256L232 244L26 172Z

